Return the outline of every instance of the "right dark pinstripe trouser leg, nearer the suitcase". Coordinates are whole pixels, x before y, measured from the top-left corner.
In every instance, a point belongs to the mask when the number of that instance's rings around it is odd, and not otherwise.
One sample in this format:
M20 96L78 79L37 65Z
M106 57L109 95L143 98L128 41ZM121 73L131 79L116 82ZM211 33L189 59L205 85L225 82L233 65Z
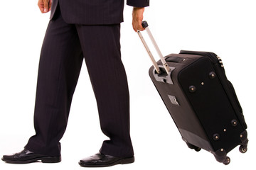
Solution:
M101 154L133 157L129 135L129 90L121 60L120 25L77 26L82 52L97 99L102 132L110 137Z

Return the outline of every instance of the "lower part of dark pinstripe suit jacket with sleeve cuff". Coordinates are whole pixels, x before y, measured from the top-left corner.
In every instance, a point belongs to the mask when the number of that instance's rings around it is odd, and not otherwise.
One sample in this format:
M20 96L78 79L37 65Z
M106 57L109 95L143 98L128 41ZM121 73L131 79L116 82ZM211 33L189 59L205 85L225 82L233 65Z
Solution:
M53 0L50 19L60 5L66 23L105 25L123 21L124 0ZM127 5L149 6L149 0L127 0Z

